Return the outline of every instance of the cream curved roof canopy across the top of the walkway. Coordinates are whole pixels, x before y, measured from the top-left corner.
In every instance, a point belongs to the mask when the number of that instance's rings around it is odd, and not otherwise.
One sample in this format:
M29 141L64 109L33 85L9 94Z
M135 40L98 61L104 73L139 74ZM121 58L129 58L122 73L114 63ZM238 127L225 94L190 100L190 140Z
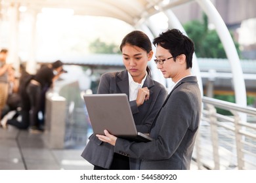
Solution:
M41 11L41 8L70 8L74 14L108 16L136 25L141 18L151 16L160 9L186 3L192 0L5 0L5 3L18 3L28 10Z

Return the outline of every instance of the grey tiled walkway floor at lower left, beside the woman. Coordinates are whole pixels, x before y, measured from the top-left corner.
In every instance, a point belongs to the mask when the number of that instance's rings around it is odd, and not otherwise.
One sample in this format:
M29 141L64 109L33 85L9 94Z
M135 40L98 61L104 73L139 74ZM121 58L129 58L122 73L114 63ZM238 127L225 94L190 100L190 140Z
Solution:
M32 134L9 125L0 128L1 170L91 170L93 166L81 158L83 148L51 149L48 133Z

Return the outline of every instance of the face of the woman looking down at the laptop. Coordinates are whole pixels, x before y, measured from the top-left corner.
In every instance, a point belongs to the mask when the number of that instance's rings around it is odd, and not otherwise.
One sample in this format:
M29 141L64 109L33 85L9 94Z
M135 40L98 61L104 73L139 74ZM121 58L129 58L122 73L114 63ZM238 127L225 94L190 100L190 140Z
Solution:
M125 68L131 74L133 80L140 83L146 75L146 66L152 58L153 52L151 51L148 54L146 50L138 46L125 44L122 48L122 54Z

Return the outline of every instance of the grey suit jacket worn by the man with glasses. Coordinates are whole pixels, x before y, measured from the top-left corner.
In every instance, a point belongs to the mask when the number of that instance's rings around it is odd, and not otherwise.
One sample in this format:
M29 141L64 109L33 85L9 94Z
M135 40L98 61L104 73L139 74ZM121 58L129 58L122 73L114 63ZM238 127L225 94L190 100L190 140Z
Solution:
M141 143L118 138L115 152L142 159L140 169L190 169L201 104L196 76L183 78L152 124L150 137L156 140Z

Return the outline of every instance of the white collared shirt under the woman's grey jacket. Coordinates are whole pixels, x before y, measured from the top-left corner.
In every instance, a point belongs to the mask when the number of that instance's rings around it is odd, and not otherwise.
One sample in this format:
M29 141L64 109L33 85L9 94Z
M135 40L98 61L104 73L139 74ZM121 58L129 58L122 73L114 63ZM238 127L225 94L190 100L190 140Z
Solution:
M139 84L138 82L135 82L133 80L133 77L131 74L128 72L128 78L129 78L129 101L135 101L137 99L138 91L140 88L142 88L144 81L146 80L146 75L142 79L141 83Z

